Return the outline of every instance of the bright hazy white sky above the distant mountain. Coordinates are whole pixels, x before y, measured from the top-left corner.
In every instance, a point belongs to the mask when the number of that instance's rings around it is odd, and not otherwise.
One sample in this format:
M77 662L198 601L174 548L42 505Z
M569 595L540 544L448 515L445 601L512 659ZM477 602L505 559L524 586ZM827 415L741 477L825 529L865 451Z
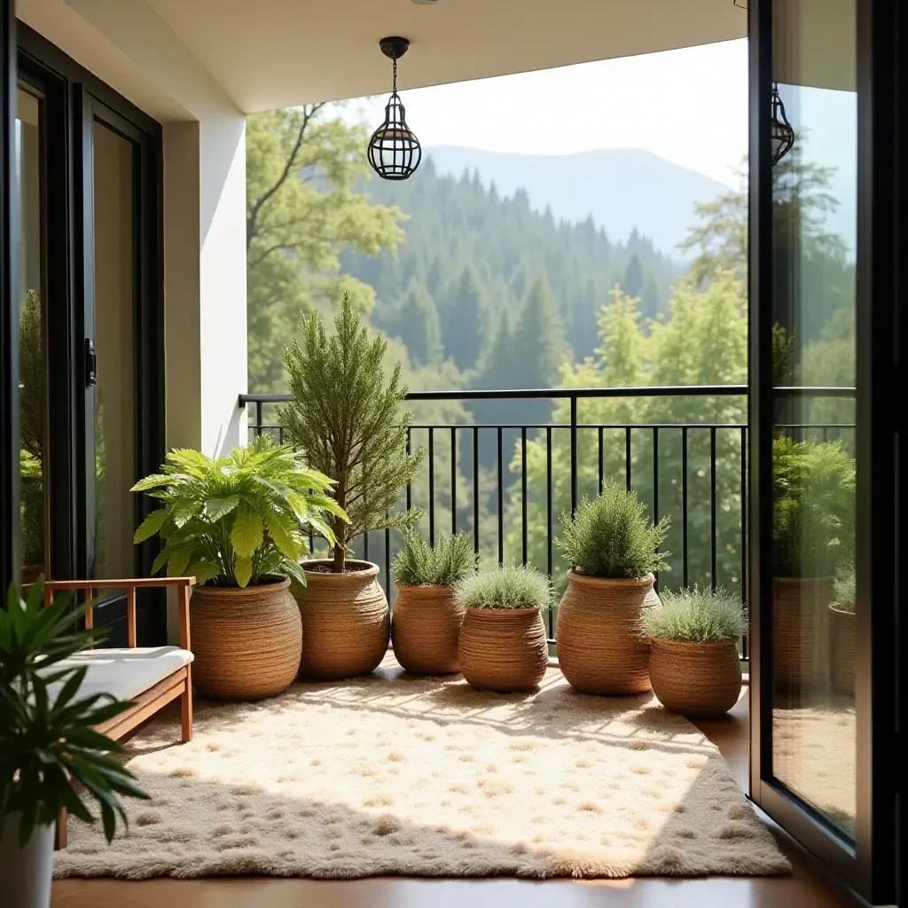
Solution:
M747 151L744 40L419 88L401 97L424 147L539 154L643 148L729 184ZM377 126L385 101L353 102L345 115L363 115Z

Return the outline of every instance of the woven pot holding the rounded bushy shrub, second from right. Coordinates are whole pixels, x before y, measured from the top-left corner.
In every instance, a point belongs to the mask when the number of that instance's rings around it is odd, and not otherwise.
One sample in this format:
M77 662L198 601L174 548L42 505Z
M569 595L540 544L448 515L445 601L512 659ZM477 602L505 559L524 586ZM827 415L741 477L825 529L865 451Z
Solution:
M568 571L558 606L558 666L585 694L641 694L649 690L649 643L640 617L658 602L653 575L630 580L585 577Z

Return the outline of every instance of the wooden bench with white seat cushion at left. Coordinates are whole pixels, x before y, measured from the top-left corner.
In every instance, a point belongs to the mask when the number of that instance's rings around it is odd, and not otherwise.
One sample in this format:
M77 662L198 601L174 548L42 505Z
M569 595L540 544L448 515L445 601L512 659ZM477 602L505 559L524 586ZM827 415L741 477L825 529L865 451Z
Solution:
M44 584L44 602L54 601L54 594L64 591L83 592L94 597L98 589L123 590L126 594L125 649L85 649L65 659L54 668L86 666L80 693L109 693L127 699L132 706L97 725L102 732L118 741L159 710L180 697L182 740L192 741L192 648L189 637L189 597L195 577L151 577L135 580L48 580ZM173 587L179 605L180 646L139 647L136 641L136 590ZM85 613L85 626L94 626L94 609ZM56 848L66 847L66 811L60 813L56 828Z

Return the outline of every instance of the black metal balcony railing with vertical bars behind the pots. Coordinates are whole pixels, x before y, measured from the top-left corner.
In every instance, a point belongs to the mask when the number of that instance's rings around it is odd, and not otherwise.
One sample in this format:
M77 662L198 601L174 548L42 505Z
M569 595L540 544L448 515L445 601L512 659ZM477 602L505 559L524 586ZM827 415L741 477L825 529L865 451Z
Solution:
M853 393L809 391L819 398ZM558 514L577 508L582 495L596 494L608 476L619 478L627 489L637 490L654 520L670 520L667 548L675 554L667 576L657 577L657 583L722 586L745 605L746 393L745 385L414 391L408 395L417 411L408 449L424 448L426 459L418 479L402 490L400 505L424 509L421 528L430 543L439 529L467 530L482 558L532 563L558 587L567 567L556 559ZM692 412L679 419L669 412L666 419L652 421L600 421L583 413L592 401L643 398L672 400L673 406L664 408L668 411L678 409L675 401L686 401ZM271 432L283 440L273 408L288 400L287 394L241 395L240 406L250 408L251 433ZM464 410L458 421L419 419L420 404L439 401L471 404L474 410ZM560 404L568 419L484 418L484 409L502 405L519 416L530 401ZM697 406L689 406L691 401ZM729 412L739 418L716 419L716 413ZM777 428L797 438L829 440L854 424L789 422ZM311 541L318 552L318 541ZM391 561L399 543L399 534L383 530L364 534L355 547L357 557L379 564L380 582L391 598ZM554 608L548 613L550 638L556 615Z

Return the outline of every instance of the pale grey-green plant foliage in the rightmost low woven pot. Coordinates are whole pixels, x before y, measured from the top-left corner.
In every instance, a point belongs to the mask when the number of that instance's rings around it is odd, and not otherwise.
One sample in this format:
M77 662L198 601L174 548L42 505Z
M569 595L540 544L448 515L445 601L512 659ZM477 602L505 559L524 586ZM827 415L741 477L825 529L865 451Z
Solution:
M731 593L717 589L682 589L660 593L661 605L646 608L640 619L643 637L717 643L736 640L745 633L744 607Z

